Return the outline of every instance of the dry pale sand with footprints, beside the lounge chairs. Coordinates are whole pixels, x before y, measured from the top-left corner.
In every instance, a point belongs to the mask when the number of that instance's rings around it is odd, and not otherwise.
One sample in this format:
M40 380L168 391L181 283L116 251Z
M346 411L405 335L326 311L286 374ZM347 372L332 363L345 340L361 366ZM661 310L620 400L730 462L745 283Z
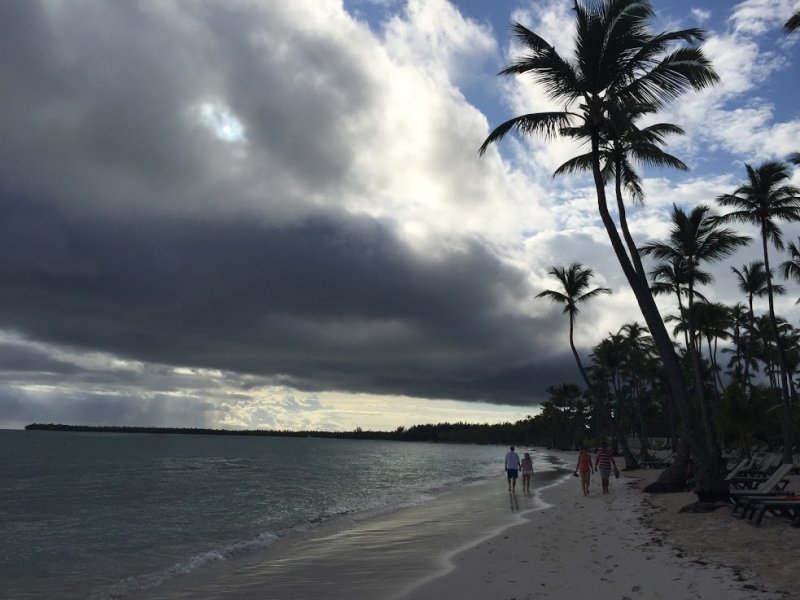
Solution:
M633 475L654 479L657 472ZM692 494L651 497L637 482L612 480L612 493L603 496L593 480L583 497L577 479L568 477L542 493L550 508L453 556L449 573L403 599L800 597L797 529L776 520L758 530L734 519L727 506L678 513L696 499ZM757 544L750 541L754 533Z

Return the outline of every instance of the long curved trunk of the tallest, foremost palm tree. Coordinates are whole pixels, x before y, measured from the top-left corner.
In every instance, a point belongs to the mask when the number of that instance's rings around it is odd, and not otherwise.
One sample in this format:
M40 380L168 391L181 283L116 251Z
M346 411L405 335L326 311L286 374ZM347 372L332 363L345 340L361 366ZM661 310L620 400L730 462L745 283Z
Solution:
M593 98L587 98L587 101L587 104L590 106L599 103L598 99ZM697 495L701 500L727 498L727 486L720 475L717 458L709 452L704 439L705 436L697 426L697 417L692 406L692 400L687 392L686 381L680 368L680 362L672 347L672 341L664 326L664 321L661 319L661 314L658 312L658 307L653 300L653 296L650 294L649 288L642 283L636 269L631 264L625 252L622 240L619 237L619 233L617 232L616 225L609 214L605 186L600 172L600 134L597 129L597 123L600 122L601 118L595 117L594 131L592 131L591 136L592 174L594 176L595 190L597 192L597 205L600 217L603 220L603 225L606 228L617 260L636 297L639 309L647 323L650 334L653 336L658 354L664 363L664 369L670 381L678 411L681 415L683 437L689 443L691 451L694 454ZM670 473L670 471L665 470L659 480L662 478L674 477L674 475L668 475L668 473Z

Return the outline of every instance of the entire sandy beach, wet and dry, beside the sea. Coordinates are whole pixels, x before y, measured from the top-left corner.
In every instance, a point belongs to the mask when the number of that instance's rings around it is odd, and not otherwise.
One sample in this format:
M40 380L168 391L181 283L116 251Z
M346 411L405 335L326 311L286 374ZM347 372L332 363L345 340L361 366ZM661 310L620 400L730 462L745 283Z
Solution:
M149 599L522 600L797 598L797 530L679 513L692 494L652 496L658 471L581 495L559 471L533 494L505 480L299 534L280 548L150 590ZM755 540L755 541L754 541Z

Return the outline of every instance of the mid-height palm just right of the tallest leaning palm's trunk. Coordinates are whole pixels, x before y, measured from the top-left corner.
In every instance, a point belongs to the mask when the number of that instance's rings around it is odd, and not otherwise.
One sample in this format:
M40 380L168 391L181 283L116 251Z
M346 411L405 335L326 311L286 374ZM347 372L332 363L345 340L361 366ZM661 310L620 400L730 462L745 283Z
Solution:
M694 371L695 393L700 401L700 415L706 430L706 443L709 450L719 455L719 446L714 435L714 423L711 418L711 407L705 394L702 370L700 368L700 345L697 341L697 329L693 323L694 286L700 281L710 283L711 275L700 269L702 262L717 262L729 256L737 248L747 245L750 238L735 234L730 229L722 228L710 214L708 206L697 206L686 213L677 205L672 207L672 227L668 242L650 242L645 244L641 253L645 256L665 261L668 264L679 264L684 269L686 278L688 319L686 329L689 335L687 350ZM694 450L694 448L692 448Z

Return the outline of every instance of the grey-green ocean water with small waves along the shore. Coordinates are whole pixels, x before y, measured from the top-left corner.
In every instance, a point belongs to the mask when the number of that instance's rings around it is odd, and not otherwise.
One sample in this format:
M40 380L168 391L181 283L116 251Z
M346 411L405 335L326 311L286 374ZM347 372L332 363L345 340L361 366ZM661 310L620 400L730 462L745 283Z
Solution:
M505 447L0 431L0 590L125 598L292 532L424 503ZM534 453L538 472L554 467Z

